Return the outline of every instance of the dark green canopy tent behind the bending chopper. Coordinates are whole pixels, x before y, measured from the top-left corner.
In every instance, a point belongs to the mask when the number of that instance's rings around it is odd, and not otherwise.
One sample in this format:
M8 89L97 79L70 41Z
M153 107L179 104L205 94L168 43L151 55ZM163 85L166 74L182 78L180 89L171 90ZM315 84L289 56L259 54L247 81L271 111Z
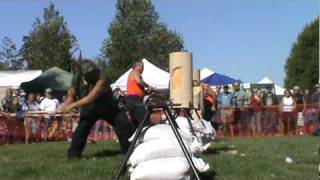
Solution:
M54 91L67 91L71 86L72 74L58 67L53 67L32 81L20 85L28 92L43 92L46 88Z

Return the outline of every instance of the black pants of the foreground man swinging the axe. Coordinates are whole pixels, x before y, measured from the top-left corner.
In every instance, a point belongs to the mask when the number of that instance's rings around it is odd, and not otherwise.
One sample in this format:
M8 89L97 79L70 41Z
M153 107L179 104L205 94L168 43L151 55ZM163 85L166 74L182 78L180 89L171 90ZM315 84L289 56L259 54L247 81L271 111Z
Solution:
M71 146L68 150L68 158L80 157L87 142L87 137L95 122L99 119L107 121L113 126L121 149L126 152L130 146L128 139L132 136L135 128L130 124L125 112L120 112L117 107L110 108L108 112L99 111L81 111L78 127L72 136Z

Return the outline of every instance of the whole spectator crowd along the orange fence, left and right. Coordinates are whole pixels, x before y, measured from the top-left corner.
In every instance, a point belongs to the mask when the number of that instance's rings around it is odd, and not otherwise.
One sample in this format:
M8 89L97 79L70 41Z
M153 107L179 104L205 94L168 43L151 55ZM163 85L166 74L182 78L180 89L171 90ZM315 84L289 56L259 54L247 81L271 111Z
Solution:
M202 84L204 90L203 119L209 121L218 136L303 135L317 130L320 85L302 91L299 86L277 96L273 88L244 89L232 86ZM232 90L230 90L232 88ZM124 106L124 93L116 88L114 97ZM63 97L61 98L63 99ZM78 110L69 115L57 113L61 102L48 88L44 95L7 89L1 100L0 144L71 141L79 121ZM112 127L103 120L96 122L88 141L115 139Z

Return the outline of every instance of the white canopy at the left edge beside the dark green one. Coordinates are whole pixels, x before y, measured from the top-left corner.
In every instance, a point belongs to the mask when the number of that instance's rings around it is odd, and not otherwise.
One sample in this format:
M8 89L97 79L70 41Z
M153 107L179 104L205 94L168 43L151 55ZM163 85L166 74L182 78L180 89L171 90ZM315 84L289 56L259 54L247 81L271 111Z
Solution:
M31 81L40 76L41 70L31 71L0 71L0 86L19 87L21 83Z

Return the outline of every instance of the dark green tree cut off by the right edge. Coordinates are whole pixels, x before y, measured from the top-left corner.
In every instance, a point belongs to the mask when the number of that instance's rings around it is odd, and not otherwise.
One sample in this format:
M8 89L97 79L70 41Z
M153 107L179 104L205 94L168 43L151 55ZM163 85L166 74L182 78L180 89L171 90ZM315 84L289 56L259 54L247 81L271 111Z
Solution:
M285 65L285 86L311 89L319 75L319 19L306 25L293 44Z

